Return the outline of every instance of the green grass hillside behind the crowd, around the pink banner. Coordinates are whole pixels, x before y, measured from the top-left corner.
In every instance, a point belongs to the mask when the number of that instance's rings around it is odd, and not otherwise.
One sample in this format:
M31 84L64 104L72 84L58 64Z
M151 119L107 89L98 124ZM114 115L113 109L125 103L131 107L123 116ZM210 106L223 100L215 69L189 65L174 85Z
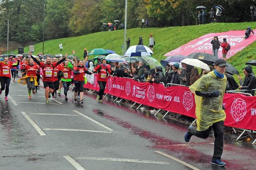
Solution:
M246 27L256 28L256 22L248 23L209 23L205 25L190 25L184 27L164 27L164 28L134 28L127 29L127 37L130 37L131 45L138 43L138 38L143 37L144 45L148 46L149 34L152 33L156 45L154 46L153 57L160 60L165 59L163 56L165 53L188 43L189 41L196 39L207 33L225 32L230 30L245 30ZM58 45L63 44L62 54L66 52L71 54L72 50L75 50L78 57L82 57L84 48L88 51L94 48L104 48L116 51L116 53L122 55L122 44L124 44L124 30L117 31L105 31L92 33L88 35L82 35L79 37L70 37L62 39L54 39L44 42L44 54L57 54L60 53ZM242 68L246 61L250 59L256 59L256 42L252 43L244 50L240 51L228 62L233 64L242 73ZM25 52L29 51L28 47L25 47ZM17 51L14 51L17 53ZM35 55L42 53L42 43L35 44ZM91 57L92 58L92 57ZM254 68L254 71L256 68Z

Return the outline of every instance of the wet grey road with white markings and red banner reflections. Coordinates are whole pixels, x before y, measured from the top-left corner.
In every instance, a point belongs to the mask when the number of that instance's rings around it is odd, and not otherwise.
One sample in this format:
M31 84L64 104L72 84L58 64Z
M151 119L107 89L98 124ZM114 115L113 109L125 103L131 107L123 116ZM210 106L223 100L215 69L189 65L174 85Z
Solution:
M63 91L63 89L62 89ZM4 94L4 92L3 92ZM26 86L11 83L0 96L0 170L186 170L212 166L214 138L184 142L187 125L84 95L45 104L44 90L28 99ZM228 139L226 137L225 139ZM226 169L255 169L255 145L226 140Z

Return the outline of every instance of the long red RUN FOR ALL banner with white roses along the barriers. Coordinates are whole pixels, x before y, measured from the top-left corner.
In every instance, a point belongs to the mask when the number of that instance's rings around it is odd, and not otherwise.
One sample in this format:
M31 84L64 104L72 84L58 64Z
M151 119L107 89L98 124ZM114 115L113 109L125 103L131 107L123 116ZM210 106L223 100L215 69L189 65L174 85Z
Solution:
M95 77L97 78L97 75ZM98 83L96 84L98 85ZM93 90L98 90L97 85L93 86L87 83L84 87L89 88L92 86ZM194 94L185 86L165 88L162 84L141 83L130 78L113 77L108 78L105 93L139 104L196 118ZM225 94L223 104L226 108L226 120L224 125L256 130L255 101L256 96L248 97L242 94Z

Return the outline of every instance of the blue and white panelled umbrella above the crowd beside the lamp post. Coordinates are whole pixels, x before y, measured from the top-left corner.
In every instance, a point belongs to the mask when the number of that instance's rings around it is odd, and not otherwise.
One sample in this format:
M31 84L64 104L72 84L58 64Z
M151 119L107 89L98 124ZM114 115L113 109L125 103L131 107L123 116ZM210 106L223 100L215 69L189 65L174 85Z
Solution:
M124 56L133 57L133 56L149 56L154 54L150 48L145 45L133 45L128 48Z

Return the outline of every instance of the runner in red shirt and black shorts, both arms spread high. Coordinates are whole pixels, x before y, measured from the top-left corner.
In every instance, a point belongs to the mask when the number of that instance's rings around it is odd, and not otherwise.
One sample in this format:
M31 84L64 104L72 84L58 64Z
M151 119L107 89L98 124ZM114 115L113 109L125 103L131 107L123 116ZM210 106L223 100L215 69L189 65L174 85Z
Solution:
M46 98L46 104L49 104L49 94L54 92L54 68L57 67L58 64L62 63L66 58L58 61L57 63L52 63L52 59L50 57L46 58L46 63L37 61L31 55L30 57L42 68L43 70L43 82L44 82L44 96Z

